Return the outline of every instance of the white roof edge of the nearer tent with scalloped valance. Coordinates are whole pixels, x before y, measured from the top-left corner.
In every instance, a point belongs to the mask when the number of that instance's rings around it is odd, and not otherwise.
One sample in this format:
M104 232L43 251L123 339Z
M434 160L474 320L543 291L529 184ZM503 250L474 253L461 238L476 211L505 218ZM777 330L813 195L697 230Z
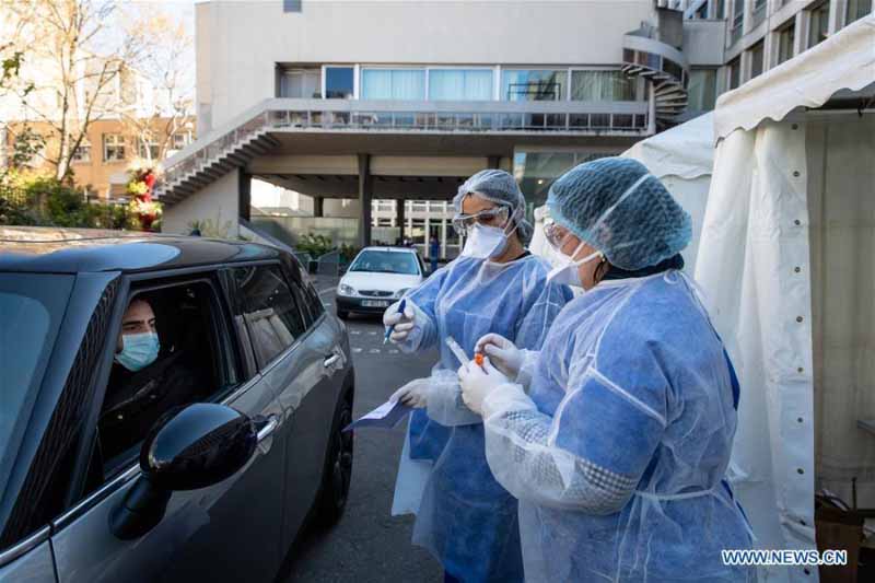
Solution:
M715 138L780 121L796 107L820 107L837 92L875 83L875 14L816 47L723 94L714 112Z

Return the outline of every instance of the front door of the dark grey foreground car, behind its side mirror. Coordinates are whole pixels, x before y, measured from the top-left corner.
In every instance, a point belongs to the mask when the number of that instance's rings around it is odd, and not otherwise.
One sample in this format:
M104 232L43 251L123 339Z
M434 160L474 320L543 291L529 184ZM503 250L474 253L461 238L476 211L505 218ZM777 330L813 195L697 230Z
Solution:
M248 338L238 334L229 296L215 271L199 273L209 296L205 334L214 362L236 375L211 398L259 418L259 444L247 465L224 481L203 489L174 492L161 522L135 540L110 532L110 515L133 487L137 464L102 483L54 524L51 545L61 583L96 581L270 581L280 561L283 505L283 455L275 447L282 409L261 375L242 362ZM168 284L166 278L132 281L133 290ZM185 284L172 281L170 285ZM115 330L118 330L116 326ZM107 342L115 346L115 336ZM112 347L110 347L112 349Z

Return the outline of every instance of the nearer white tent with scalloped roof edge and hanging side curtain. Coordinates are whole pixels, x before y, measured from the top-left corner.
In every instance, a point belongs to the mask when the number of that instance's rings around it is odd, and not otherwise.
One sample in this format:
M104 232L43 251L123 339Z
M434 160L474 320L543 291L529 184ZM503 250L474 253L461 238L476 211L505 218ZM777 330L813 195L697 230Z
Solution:
M761 548L815 548L816 489L850 501L855 478L875 508L873 92L871 15L714 112L695 272L742 383L731 469Z

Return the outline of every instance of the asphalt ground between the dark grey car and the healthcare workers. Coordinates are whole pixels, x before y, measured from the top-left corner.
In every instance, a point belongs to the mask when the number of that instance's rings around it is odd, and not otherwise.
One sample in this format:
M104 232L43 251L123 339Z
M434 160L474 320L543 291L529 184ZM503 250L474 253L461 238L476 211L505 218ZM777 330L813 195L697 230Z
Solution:
M319 278L327 310L334 311L336 280ZM401 354L383 345L378 317L351 316L347 320L355 364L354 418L386 401L412 378L427 376L436 351ZM330 530L311 528L299 541L288 583L303 581L440 582L441 565L425 550L410 544L412 516L392 516L392 495L404 445L406 423L394 430L370 429L355 433L352 482L346 513Z

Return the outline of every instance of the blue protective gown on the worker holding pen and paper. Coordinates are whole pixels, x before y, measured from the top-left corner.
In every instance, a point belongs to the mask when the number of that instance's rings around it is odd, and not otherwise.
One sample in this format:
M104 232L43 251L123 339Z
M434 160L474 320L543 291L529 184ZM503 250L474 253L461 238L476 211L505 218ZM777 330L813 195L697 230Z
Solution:
M413 543L466 583L522 581L523 564L516 500L489 470L482 420L462 400L455 373L460 363L444 340L452 336L469 357L489 333L539 348L572 298L568 287L547 284L548 270L530 255L508 264L460 257L407 295L418 308L420 339L401 349L436 345L441 351L428 409L415 411L410 420L410 457L434 460Z

